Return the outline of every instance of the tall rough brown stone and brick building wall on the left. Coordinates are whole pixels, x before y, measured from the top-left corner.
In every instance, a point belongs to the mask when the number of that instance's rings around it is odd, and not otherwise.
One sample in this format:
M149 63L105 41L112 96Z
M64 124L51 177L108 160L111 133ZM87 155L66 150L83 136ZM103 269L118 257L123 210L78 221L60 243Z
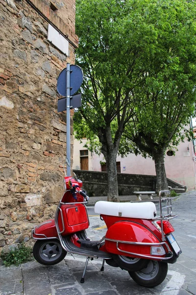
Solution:
M47 0L0 0L0 252L53 218L64 191L66 114L57 113L56 82L74 63L78 38L75 1L53 2L56 11ZM47 40L49 23L69 41L68 57Z

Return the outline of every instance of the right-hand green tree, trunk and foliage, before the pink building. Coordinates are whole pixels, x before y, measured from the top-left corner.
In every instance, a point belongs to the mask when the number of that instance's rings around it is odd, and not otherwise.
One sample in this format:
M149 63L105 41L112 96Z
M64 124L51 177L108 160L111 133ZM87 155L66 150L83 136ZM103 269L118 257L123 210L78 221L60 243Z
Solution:
M168 189L164 154L185 135L190 137L190 130L184 127L189 125L196 104L195 1L164 1L162 9L167 15L162 14L159 25L167 22L167 28L164 34L157 30L158 44L143 77L143 87L134 91L135 116L123 133L135 144L136 152L139 149L153 158L157 191Z

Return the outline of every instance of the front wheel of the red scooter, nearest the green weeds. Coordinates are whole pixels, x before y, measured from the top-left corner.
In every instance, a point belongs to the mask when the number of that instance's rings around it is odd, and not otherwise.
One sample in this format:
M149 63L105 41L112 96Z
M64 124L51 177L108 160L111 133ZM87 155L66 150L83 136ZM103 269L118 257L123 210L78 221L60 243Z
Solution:
M66 254L58 239L37 240L33 246L35 260L44 266L54 266L61 262Z

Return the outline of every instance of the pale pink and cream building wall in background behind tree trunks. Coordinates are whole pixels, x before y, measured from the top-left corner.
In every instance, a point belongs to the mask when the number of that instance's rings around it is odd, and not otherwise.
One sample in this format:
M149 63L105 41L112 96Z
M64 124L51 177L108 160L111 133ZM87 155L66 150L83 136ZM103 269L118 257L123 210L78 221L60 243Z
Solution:
M86 140L80 144L74 140L73 149L73 169L80 169L79 150L83 148ZM196 186L196 166L193 145L187 140L180 143L175 151L175 155L165 155L165 169L168 178L188 187L195 189ZM100 161L104 161L103 155L98 156L95 152L89 152L89 170L101 171ZM121 173L136 175L155 176L155 165L151 158L144 158L141 155L129 154L127 157L117 157L117 162L121 162Z

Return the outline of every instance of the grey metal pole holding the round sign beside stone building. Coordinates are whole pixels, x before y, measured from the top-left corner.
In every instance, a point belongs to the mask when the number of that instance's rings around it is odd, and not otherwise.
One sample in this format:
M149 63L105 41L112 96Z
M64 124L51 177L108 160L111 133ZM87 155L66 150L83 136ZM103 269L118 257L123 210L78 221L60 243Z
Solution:
M71 176L71 155L70 155L70 63L67 63L67 176Z

